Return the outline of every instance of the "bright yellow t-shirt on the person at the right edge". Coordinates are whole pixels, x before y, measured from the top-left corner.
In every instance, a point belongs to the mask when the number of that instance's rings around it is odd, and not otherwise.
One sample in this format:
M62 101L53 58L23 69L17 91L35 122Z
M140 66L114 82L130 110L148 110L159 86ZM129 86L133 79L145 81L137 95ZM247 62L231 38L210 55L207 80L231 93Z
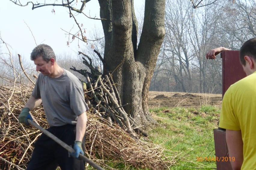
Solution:
M241 169L256 169L256 72L228 88L222 100L219 127L241 130Z

